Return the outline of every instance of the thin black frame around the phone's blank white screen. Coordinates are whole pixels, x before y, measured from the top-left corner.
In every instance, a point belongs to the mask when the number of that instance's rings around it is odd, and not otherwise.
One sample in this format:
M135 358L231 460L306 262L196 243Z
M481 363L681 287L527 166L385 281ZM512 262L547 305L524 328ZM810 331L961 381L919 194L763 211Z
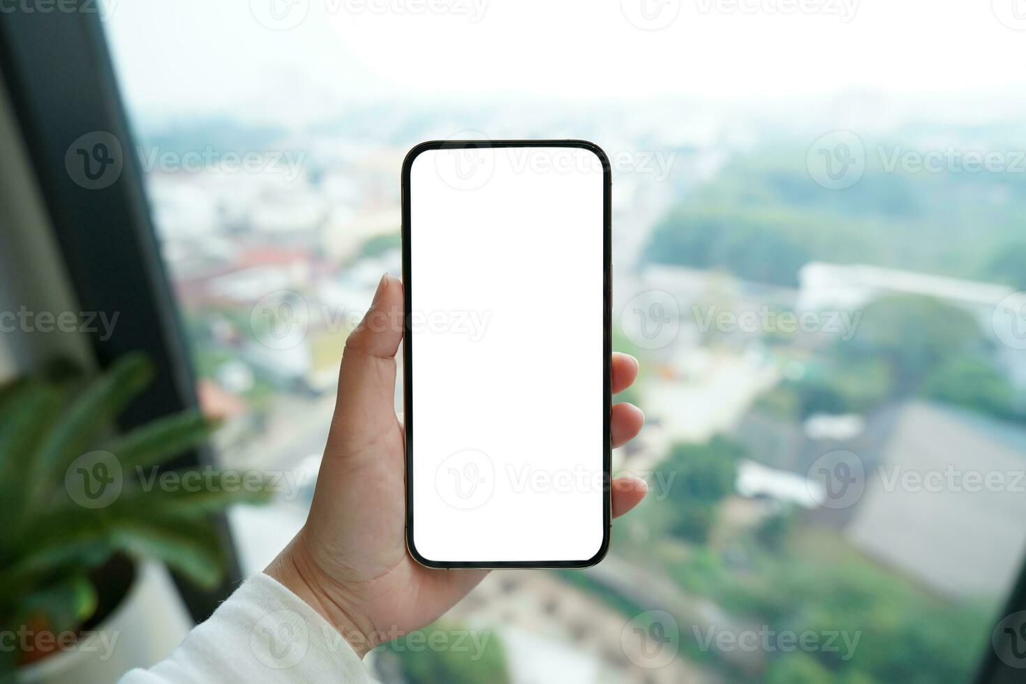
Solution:
M602 544L591 558L579 561L433 561L425 558L413 545L413 383L412 383L412 335L410 330L412 279L410 277L410 206L409 172L413 160L428 150L467 148L579 148L588 150L598 157L602 165L602 479L605 496L602 498ZM609 158L594 143L587 140L429 140L415 146L402 162L400 182L402 195L402 281L405 288L403 297L403 418L406 434L405 444L405 497L406 497L406 549L410 557L421 565L430 568L584 568L597 564L609 550L613 523L611 469L613 447L610 443L610 416L613 405L613 173ZM596 369L597 370L597 369Z

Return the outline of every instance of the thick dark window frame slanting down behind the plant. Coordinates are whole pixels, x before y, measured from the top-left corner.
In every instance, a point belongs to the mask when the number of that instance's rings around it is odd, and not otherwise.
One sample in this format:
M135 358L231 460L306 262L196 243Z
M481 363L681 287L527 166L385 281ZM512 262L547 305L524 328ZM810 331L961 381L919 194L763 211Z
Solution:
M18 5L0 14L0 72L78 304L82 311L119 316L110 338L90 334L98 365L106 367L131 351L147 353L156 364L153 384L118 420L127 430L198 402L100 4L52 3L46 12L39 7L24 11ZM90 190L69 175L65 156L73 142L93 131L120 142L123 166L112 185ZM210 449L201 448L168 468L212 464ZM196 620L208 617L242 578L227 518L211 520L228 559L225 580L207 592L175 577Z

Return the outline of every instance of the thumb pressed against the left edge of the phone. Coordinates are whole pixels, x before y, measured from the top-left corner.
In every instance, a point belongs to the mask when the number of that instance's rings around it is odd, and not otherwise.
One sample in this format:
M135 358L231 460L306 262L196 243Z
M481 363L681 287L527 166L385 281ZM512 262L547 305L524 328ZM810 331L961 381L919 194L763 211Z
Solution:
M370 309L346 339L332 427L350 446L370 443L395 423L395 353L402 340L403 290L385 274Z

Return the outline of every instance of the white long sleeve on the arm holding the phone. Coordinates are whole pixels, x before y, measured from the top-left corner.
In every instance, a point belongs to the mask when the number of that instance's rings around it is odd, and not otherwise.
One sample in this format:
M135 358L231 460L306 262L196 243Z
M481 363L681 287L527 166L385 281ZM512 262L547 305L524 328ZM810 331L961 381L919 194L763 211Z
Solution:
M320 613L277 580L253 575L164 660L120 684L372 682Z

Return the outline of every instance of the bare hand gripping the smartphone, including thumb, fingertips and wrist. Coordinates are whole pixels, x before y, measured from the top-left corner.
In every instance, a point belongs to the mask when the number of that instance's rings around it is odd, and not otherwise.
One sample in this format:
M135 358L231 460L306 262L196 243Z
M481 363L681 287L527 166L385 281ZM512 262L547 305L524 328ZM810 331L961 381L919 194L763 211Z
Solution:
M406 553L405 433L393 408L402 297L399 280L382 278L346 341L310 515L265 570L327 618L361 657L439 617L488 572L427 568ZM637 372L633 357L614 354L613 392L630 387ZM613 446L633 439L643 421L636 406L615 405ZM638 478L614 480L613 516L630 511L646 491Z

